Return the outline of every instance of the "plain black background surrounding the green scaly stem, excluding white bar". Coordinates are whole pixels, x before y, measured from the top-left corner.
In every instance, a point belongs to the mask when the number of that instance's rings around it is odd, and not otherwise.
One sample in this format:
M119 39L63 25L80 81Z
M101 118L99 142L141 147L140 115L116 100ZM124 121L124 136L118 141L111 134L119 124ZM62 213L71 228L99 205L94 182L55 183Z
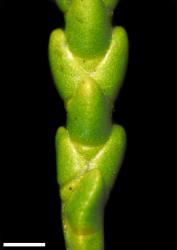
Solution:
M114 12L130 42L113 113L128 145L105 209L106 250L177 249L176 10L175 1L122 0ZM64 249L54 136L66 115L47 55L63 14L47 0L1 0L0 12L1 243Z

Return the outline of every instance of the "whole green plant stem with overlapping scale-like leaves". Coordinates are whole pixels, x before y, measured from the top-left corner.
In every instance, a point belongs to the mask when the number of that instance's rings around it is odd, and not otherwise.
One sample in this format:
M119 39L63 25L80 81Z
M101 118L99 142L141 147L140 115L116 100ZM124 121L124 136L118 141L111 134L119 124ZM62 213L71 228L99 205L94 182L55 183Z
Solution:
M111 27L116 3L57 0L66 27L49 41L51 71L67 110L56 156L68 250L104 249L104 206L125 152L125 131L111 122L128 59L126 31Z

